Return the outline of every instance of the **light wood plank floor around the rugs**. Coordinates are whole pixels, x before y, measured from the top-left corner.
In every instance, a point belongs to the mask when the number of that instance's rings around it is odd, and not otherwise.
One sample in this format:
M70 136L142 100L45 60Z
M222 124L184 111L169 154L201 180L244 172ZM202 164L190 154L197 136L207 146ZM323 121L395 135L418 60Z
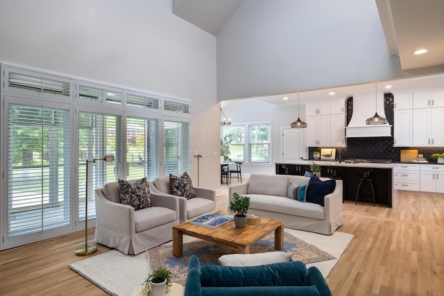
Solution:
M222 186L218 209L227 205ZM444 295L444 198L399 195L396 209L345 202L343 214L338 230L355 237L327 277L333 295ZM83 238L75 232L1 251L0 295L106 295L68 268L85 259L74 255Z

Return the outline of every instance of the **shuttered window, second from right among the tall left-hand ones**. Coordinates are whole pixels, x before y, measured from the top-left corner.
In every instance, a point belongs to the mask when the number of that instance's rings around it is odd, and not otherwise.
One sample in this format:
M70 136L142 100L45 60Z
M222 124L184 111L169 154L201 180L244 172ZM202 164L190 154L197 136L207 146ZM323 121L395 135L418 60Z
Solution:
M159 120L127 117L126 161L128 180L159 176Z

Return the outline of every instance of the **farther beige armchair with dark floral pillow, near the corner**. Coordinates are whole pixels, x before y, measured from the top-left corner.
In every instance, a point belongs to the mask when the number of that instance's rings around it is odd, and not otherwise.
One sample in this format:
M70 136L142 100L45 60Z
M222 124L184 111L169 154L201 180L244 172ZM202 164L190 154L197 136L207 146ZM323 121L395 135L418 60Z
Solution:
M157 177L154 181L149 182L151 192L162 194L164 196L176 196L171 195L171 189L169 186L169 175ZM176 196L179 199L180 207L180 223L187 220L192 220L201 215L213 213L216 210L216 190L206 189L200 187L193 187L195 198L182 198Z

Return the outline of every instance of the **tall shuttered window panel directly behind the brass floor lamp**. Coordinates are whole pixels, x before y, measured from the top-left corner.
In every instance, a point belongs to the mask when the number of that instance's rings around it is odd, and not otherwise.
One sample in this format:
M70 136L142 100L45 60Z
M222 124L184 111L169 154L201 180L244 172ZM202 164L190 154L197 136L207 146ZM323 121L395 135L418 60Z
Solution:
M78 219L85 220L86 187L89 219L96 216L94 189L119 178L121 116L80 112L78 154ZM114 155L115 162L104 162L105 155Z

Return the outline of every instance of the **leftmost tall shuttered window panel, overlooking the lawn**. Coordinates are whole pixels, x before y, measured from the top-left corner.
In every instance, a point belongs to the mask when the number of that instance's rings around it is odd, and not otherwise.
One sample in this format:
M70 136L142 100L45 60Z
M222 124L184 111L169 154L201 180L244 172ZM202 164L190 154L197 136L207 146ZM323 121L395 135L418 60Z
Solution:
M8 237L69 225L69 110L8 106Z

